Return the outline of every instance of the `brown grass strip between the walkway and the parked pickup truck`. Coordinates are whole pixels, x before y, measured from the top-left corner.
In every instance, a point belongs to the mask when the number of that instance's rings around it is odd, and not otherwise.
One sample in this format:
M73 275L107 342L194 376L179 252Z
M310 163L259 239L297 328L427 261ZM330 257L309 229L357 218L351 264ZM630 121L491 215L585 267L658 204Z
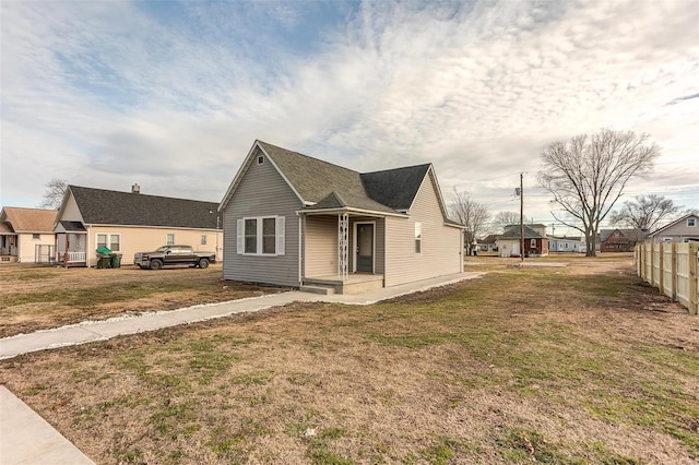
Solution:
M224 302L282 289L222 278L209 269L0 267L0 337L125 314Z

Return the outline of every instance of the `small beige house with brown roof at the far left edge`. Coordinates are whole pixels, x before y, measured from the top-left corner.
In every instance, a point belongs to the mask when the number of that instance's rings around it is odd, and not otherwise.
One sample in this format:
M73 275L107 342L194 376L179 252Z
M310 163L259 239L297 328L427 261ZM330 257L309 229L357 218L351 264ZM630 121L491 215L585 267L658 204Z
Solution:
M55 210L5 206L0 213L0 263L43 263L52 258Z

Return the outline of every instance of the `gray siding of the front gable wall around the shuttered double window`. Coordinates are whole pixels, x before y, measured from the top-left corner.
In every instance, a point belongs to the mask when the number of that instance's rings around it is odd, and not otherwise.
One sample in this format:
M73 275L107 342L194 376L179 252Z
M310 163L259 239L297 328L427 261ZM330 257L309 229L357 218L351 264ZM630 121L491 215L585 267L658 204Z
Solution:
M224 210L225 279L298 286L298 225L296 212L301 203L266 157L257 163L258 153ZM252 216L284 216L285 254L256 257L237 253L237 220Z

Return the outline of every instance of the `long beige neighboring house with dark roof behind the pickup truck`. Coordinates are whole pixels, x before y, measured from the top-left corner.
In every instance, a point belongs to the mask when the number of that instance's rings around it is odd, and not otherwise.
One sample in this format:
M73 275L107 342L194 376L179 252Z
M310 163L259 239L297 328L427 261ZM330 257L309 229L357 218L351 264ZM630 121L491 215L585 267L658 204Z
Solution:
M166 245L192 246L221 258L223 229L216 202L69 186L58 212L56 260L66 266L93 266L106 246L132 264L137 252Z

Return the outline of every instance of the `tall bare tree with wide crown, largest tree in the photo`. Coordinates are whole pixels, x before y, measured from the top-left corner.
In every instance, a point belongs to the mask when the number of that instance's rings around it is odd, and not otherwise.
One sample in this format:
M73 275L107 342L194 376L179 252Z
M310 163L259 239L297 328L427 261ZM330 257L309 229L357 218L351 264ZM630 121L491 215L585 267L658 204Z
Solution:
M621 196L629 179L653 170L660 147L648 140L648 134L603 129L544 148L538 182L565 212L552 212L554 217L585 235L588 257L596 255L600 223Z

